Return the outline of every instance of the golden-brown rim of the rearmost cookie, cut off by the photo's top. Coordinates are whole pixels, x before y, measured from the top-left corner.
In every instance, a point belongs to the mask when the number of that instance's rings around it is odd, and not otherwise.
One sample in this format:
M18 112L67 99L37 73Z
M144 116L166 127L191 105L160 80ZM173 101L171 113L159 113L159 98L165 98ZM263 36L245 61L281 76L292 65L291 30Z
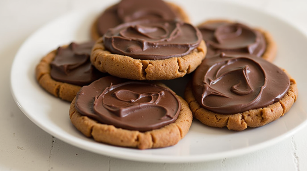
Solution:
M183 20L187 23L190 22L188 15L185 13L185 11L180 6L177 6L176 4L174 4L172 2L167 2L167 3L171 7L171 9L173 9L173 11L178 14L178 16L181 20ZM109 8L111 8L111 7L109 7ZM98 33L97 23L98 23L98 18L94 21L94 23L91 26L91 38L93 40L97 40L100 37L100 35Z

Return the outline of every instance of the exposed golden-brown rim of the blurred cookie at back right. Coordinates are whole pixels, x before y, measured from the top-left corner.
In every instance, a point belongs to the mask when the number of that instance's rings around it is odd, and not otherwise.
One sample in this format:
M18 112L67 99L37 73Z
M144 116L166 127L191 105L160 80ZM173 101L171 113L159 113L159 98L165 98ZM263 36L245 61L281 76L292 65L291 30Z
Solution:
M216 23L216 22L227 22L227 23L233 23L234 21L230 20L207 20L198 26L202 24L207 24L207 23ZM272 37L272 35L269 32L266 32L265 30L261 28L255 28L255 30L258 30L264 35L264 38L266 40L266 50L262 54L261 58L265 59L266 61L272 62L277 54L277 45Z

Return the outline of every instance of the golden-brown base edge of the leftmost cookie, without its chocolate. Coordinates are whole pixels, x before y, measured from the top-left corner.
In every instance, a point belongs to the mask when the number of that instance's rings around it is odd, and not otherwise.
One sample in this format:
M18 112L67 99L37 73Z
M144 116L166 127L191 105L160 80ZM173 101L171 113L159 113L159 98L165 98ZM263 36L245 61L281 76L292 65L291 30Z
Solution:
M55 97L71 102L81 87L73 84L62 83L51 78L50 63L55 56L56 50L53 50L41 59L40 63L36 66L35 69L36 80L41 85L41 87L43 87L46 91Z

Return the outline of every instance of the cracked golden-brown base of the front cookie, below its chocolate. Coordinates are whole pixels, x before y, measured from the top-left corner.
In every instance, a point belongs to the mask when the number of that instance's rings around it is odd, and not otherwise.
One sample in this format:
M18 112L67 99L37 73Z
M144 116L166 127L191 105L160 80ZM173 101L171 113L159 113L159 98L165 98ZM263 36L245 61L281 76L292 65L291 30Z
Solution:
M177 144L188 133L193 119L188 103L180 96L177 98L181 103L177 120L172 124L147 132L131 131L98 123L81 115L75 109L76 99L70 105L69 117L80 132L87 137L93 137L98 142L138 149L168 147Z

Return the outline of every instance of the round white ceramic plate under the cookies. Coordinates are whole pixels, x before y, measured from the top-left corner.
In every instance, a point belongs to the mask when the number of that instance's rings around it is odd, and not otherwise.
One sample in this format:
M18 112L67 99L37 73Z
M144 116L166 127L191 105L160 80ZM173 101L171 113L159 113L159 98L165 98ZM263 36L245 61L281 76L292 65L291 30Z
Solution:
M237 156L277 143L305 125L307 91L304 87L307 80L305 72L301 72L307 63L305 35L278 18L231 3L190 0L178 4L185 7L194 24L210 18L226 18L272 33L278 43L274 63L287 69L297 80L299 98L292 109L273 123L243 132L209 128L194 120L184 139L173 147L162 149L114 147L86 138L69 120L69 103L44 91L35 80L34 69L45 54L58 46L89 40L91 23L107 5L69 13L45 25L25 41L16 54L11 71L11 90L16 103L36 125L73 146L116 158L147 162L197 162Z

